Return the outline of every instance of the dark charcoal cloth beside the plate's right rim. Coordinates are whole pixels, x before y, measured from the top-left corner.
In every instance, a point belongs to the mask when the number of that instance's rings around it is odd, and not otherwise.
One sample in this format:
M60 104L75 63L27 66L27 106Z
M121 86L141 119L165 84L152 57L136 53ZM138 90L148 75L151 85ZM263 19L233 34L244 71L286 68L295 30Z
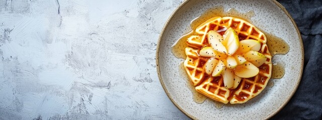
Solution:
M322 119L322 0L277 1L301 32L304 70L291 100L271 119Z

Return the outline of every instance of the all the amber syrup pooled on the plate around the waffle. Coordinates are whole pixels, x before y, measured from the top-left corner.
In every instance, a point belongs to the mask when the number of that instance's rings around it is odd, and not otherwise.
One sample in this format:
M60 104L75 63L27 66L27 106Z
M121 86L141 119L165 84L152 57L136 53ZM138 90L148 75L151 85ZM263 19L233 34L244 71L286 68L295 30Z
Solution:
M209 18L214 17L214 16L235 16L235 17L239 17L239 18L243 18L243 19L247 19L248 21L251 21L251 17L253 15L254 15L254 11L240 13L233 8L231 8L229 11L224 11L222 6L218 6L218 7L214 7L212 9L207 10L201 16L193 19L190 23L191 23L191 28L196 29L197 26L199 26L204 21L206 21ZM196 34L196 33L193 30L188 32L187 34L181 36L177 40L177 42L172 46L172 53L177 58L183 58L183 59L186 58L185 48L188 47L186 40L188 39L188 37L190 37L191 35L194 35L194 34ZM223 33L221 33L221 34L223 34ZM289 51L289 46L283 39L281 39L280 37L274 36L273 34L270 34L270 33L264 32L264 34L267 37L267 45L268 45L269 51L272 56L275 54L286 54ZM178 67L179 67L179 71L180 71L181 76L187 80L187 87L193 93L193 100L196 103L203 103L205 101L205 99L207 99L208 97L195 90L195 87L189 81L187 73L184 69L183 62L180 63L180 65ZM273 64L271 79L282 78L284 73L285 73L284 66L282 64L275 63L275 64ZM273 82L269 82L268 86L272 87L273 84L274 84ZM217 108L220 108L220 107L217 107Z

